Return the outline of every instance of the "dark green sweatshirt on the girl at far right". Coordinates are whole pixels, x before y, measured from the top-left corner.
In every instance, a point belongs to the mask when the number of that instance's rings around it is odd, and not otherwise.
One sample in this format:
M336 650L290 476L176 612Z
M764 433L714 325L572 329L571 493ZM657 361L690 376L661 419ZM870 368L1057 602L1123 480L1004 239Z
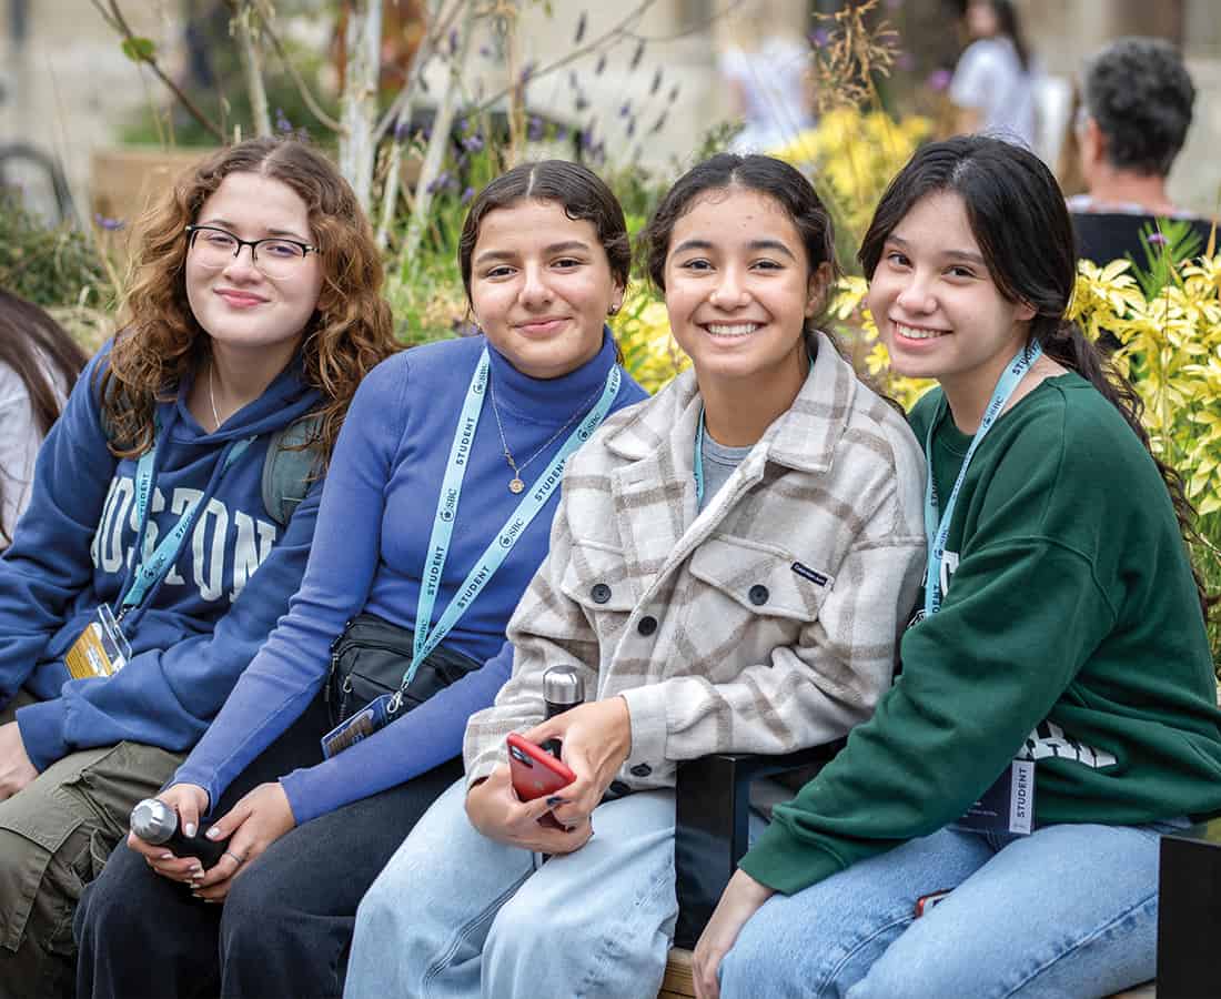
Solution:
M940 390L938 495L971 438ZM1137 824L1221 810L1221 713L1175 510L1115 408L1077 375L1039 385L972 458L944 603L902 673L741 867L792 893L957 819L1022 755L1035 821Z

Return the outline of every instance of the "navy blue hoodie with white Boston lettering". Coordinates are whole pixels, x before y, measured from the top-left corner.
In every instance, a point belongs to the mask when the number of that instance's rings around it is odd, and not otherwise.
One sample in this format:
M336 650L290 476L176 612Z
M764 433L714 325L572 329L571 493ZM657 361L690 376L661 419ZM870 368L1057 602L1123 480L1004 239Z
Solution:
M95 381L109 354L107 346L85 368L43 443L29 507L0 558L0 706L23 686L39 699L17 711L17 724L40 771L125 739L171 751L194 745L300 585L321 496L319 480L286 526L263 504L271 434L321 401L299 359L215 434L190 415L190 385L182 385L158 405L145 550L201 497L194 528L168 574L122 622L127 666L72 679L65 652L99 603L117 611L137 568L136 460L109 452ZM227 446L248 437L245 453L220 473Z

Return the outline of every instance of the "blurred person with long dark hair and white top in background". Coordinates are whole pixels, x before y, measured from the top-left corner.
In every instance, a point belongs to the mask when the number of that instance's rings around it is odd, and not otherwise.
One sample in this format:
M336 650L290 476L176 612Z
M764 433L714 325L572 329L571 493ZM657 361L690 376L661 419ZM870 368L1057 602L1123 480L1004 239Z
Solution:
M969 0L967 46L950 82L956 131L984 132L1032 148L1034 78L1012 0Z

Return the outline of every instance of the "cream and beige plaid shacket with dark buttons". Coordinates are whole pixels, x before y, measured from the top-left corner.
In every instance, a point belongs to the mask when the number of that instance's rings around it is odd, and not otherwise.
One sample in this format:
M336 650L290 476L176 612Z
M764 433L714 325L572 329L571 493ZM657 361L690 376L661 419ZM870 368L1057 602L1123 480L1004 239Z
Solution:
M673 786L711 752L788 752L867 718L924 568L924 462L824 337L811 376L707 508L687 371L569 459L551 551L509 622L513 677L471 716L468 782L543 719L542 674L623 695L619 779Z

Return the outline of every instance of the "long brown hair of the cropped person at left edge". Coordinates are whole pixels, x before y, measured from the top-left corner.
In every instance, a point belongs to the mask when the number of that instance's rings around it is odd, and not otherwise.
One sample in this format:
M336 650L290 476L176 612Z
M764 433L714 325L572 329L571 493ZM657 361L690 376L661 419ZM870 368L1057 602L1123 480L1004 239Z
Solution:
M17 372L29 394L40 436L60 418L59 390L68 390L88 358L74 340L37 305L0 289L0 364ZM50 369L50 370L48 370ZM0 498L4 476L0 476ZM0 539L12 540L12 525L0 519Z

